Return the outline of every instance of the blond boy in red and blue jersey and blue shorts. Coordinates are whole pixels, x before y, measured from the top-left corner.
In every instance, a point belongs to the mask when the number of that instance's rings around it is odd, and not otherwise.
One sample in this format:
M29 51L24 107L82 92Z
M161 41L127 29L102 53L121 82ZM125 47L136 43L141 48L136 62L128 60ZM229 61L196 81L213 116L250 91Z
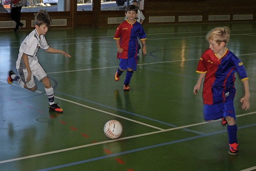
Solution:
M235 73L238 72L244 84L244 97L241 98L242 109L250 109L249 81L243 63L226 48L230 39L228 27L212 29L206 35L209 42L201 56L196 72L200 73L198 83L194 87L197 94L204 78L203 101L204 119L212 121L222 118L222 125L227 126L230 155L238 155L236 113L234 109Z

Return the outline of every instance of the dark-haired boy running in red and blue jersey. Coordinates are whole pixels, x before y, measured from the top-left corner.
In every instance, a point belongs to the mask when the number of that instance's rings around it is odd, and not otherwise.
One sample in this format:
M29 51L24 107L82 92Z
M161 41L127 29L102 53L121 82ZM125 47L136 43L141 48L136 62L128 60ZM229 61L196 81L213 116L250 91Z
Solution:
M114 39L117 46L117 58L120 60L119 67L115 74L115 80L119 81L122 73L127 70L126 78L124 80L124 91L130 89L130 80L132 74L137 69L137 58L139 52L138 38L142 42L143 54L147 53L146 50L146 33L142 25L136 21L138 8L135 5L130 5L126 8L125 15L127 20L122 22L115 33Z

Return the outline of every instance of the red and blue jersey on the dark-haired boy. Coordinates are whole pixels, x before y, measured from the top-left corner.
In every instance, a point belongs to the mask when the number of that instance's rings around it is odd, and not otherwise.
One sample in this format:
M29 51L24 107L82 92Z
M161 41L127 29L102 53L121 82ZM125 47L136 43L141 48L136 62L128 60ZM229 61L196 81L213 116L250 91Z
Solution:
M139 22L129 23L128 20L122 22L116 29L114 39L120 39L120 48L124 51L117 53L117 58L128 59L137 58L138 54L138 38L146 40L146 33Z

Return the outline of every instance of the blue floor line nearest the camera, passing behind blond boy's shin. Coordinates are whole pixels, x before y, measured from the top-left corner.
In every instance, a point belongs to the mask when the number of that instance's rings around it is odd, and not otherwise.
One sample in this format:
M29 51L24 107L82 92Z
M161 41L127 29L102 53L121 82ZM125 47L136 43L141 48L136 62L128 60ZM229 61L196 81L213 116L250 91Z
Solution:
M252 126L256 126L256 123L251 124L251 125L245 125L245 126L238 127L238 129L243 129L243 128L252 127ZM115 156L118 156L118 155L124 155L124 154L128 154L128 153L134 153L134 152L137 152L137 151L152 149L152 148L155 148L155 147L162 147L162 146L165 146L165 145L180 143L180 142L184 142L184 141L190 141L190 140L193 140L193 139L207 137L207 136L210 136L210 135L216 135L216 134L220 134L220 133L224 133L224 132L226 132L226 130L217 131L217 132L213 132L213 133L207 133L207 134L204 134L204 135L198 135L198 136L195 136L195 137L180 139L180 140L176 140L176 141L170 141L170 142L167 142L167 143L151 145L151 146L148 146L148 147L142 147L142 148L139 148L139 149L133 149L133 150L124 151L124 152L120 152L120 153L116 153L116 154L110 154L110 155L106 155L106 156L102 156L102 157L95 157L95 158L92 158L92 159L77 161L77 162L74 162L74 163L68 163L68 164L59 165L59 166L55 166L55 167L49 167L49 168L41 169L41 170L38 170L38 171L49 171L49 170L53 170L53 169L60 169L60 168L63 168L63 167L79 165L79 164L82 164L82 163L88 163L88 162L91 162L91 161L97 161L97 160L106 159L106 158L109 158L109 157L115 157Z

